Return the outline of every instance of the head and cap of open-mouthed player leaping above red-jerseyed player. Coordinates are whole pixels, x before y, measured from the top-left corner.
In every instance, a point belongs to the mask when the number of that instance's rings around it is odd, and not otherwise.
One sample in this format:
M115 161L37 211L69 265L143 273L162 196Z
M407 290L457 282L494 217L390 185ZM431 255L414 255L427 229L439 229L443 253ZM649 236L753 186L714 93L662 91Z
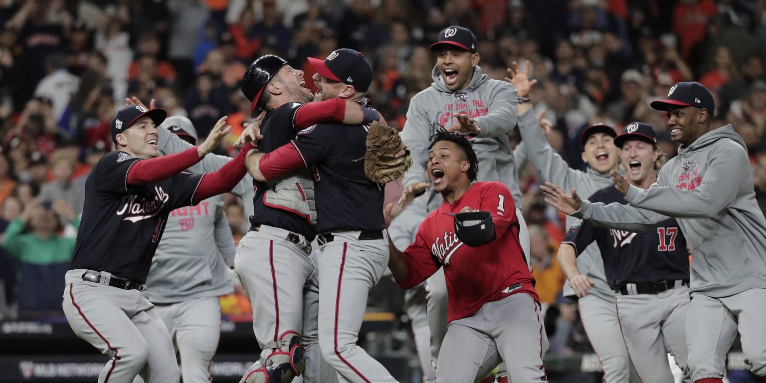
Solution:
M437 52L437 69L447 89L461 90L471 82L473 67L479 64L477 45L476 35L467 28L453 25L439 32L439 41L429 49Z

